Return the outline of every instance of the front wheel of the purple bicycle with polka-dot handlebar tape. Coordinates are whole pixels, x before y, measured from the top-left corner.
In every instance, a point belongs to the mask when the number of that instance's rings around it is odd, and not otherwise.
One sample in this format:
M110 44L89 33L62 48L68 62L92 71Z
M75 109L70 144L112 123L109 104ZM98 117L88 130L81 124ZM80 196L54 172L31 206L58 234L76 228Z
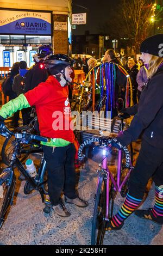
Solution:
M105 234L105 212L106 212L106 175L101 173L97 187L95 208L92 220L91 245L102 245Z

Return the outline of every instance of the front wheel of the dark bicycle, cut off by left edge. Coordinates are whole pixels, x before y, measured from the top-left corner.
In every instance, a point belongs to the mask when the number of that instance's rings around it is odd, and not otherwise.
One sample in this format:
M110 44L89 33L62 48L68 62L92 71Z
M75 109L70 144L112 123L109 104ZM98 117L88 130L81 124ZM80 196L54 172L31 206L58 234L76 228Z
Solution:
M12 178L11 176L12 175ZM9 181L10 179L10 181ZM0 175L1 180L1 175ZM10 205L12 205L12 200L14 197L16 179L15 175L7 173L7 177L4 179L4 182L0 186L0 229L5 221Z

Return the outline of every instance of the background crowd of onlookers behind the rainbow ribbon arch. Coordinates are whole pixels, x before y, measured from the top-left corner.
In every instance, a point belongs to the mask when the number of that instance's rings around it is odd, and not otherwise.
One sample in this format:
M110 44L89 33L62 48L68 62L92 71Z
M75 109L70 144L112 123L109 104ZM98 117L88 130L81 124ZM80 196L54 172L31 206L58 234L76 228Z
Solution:
M95 57L86 58L86 55L82 59L80 54L75 54L74 59L76 63L74 64L73 68L77 70L84 70L85 75L91 70L93 67L97 65L97 60ZM109 49L105 52L103 58L101 59L101 63L116 63L123 68L126 69L128 72L131 85L133 90L133 103L136 104L140 99L140 94L142 89L145 87L148 78L147 78L147 70L148 65L145 65L142 60L139 58L139 61L135 60L134 57L126 57L121 58L120 54L117 54L114 50ZM116 68L117 70L117 68ZM118 85L118 97L125 97L125 87L126 87L126 77L121 74L119 70L116 72L117 74L117 85ZM99 69L97 71L97 79L96 83L100 84L100 76L99 76Z

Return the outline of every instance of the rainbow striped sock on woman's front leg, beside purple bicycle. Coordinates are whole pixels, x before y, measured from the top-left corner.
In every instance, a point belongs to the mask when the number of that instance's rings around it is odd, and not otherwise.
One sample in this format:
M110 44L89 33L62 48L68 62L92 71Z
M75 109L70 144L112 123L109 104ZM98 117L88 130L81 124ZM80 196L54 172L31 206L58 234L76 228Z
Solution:
M137 199L127 194L121 209L112 217L111 225L113 227L118 227L121 225L121 223L135 211L141 201L142 199Z

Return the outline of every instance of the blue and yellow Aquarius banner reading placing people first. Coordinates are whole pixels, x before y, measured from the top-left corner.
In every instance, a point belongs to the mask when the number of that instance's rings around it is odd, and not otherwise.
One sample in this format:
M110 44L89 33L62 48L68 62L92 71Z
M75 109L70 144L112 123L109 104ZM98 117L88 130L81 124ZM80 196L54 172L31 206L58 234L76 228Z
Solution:
M51 13L0 10L0 34L51 34Z

